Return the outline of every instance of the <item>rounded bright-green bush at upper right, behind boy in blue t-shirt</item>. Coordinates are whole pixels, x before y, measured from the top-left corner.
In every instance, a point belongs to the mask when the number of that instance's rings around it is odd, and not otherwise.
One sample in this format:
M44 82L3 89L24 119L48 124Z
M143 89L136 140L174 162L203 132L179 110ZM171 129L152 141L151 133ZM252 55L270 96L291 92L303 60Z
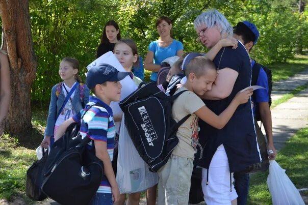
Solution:
M253 48L253 56L263 63L286 62L296 51L300 19L297 13L286 9L284 18L279 11L271 11L260 21L257 15L252 16L252 22L260 31L260 39ZM257 21L259 19L259 21Z

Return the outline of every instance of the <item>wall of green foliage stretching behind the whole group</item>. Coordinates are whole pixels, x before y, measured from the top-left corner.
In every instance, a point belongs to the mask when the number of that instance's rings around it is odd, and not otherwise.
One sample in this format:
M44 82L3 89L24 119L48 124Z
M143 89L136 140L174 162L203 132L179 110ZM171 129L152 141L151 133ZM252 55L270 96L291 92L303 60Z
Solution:
M306 1L304 1L306 2ZM165 15L172 19L173 38L182 41L184 52L206 52L195 41L194 18L216 8L231 25L249 20L260 31L252 57L262 64L286 62L308 48L306 11L299 13L297 1L287 0L33 0L30 19L38 68L32 87L33 102L46 105L50 90L61 81L61 59L72 56L80 61L83 80L86 66L95 58L102 28L110 19L120 26L123 38L135 40L145 57L148 45L159 38L155 21Z

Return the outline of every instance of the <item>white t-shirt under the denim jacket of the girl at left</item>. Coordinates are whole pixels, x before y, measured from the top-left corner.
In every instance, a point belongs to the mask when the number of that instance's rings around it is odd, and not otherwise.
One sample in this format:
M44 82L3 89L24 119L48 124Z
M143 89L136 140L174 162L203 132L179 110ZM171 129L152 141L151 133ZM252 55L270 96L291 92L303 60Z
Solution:
M62 83L62 92L64 93L65 98L75 84L76 84L76 82L71 87L68 87L64 82ZM67 90L68 93L66 92L65 89ZM78 89L78 88L76 87L76 89ZM59 118L56 120L55 126L60 126L64 121L66 121L67 119L69 119L71 116L73 116L75 114L74 109L73 109L73 105L72 105L74 94L75 94L75 91L71 94L70 99L68 99L67 103L65 104L64 108L62 109L62 111L59 115Z

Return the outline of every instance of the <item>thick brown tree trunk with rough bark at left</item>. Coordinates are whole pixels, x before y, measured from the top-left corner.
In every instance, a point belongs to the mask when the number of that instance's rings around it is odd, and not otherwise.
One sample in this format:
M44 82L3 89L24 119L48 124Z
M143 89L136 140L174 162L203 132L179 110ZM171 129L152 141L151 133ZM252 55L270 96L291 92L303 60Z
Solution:
M36 58L30 29L28 0L0 0L2 49L7 50L11 71L11 104L6 130L25 134L31 125L31 86Z

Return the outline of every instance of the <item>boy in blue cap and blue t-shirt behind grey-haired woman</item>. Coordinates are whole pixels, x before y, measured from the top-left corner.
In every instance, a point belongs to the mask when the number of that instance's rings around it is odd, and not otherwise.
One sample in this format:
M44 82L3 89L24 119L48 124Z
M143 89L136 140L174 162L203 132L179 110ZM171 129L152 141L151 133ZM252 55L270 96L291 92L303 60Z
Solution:
M245 46L248 53L250 53L251 48L256 44L259 38L259 31L256 28L256 26L249 22L249 21L243 21L239 22L234 27L234 37L241 41L243 45ZM250 58L250 63L252 69L257 69L255 67L256 62ZM256 107L259 107L259 112L261 116L261 122L263 123L267 141L268 141L268 154L270 159L275 159L276 157L276 149L274 147L273 142L273 132L272 132L272 115L271 110L269 107L269 87L268 87L268 77L263 69L264 66L260 68L260 72L258 75L258 78L256 79L256 82L251 82L251 85L260 85L265 87L265 89L259 89L254 92L254 95L252 96L252 104L253 104L253 115L255 116ZM247 203L247 195L248 195L248 189L249 189L249 174L243 174L243 173L235 173L235 189L239 195L238 197L238 204L246 204Z

